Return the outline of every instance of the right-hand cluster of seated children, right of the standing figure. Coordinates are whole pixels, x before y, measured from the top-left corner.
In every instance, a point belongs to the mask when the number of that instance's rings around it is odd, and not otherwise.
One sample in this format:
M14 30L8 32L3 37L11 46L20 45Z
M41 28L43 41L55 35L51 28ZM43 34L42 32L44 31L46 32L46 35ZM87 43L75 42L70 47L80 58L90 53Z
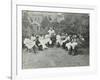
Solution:
M56 38L57 47L61 46L63 49L67 50L68 53L71 55L78 54L77 49L79 45L81 45L84 42L84 38L80 34L66 34L64 36L57 35Z

